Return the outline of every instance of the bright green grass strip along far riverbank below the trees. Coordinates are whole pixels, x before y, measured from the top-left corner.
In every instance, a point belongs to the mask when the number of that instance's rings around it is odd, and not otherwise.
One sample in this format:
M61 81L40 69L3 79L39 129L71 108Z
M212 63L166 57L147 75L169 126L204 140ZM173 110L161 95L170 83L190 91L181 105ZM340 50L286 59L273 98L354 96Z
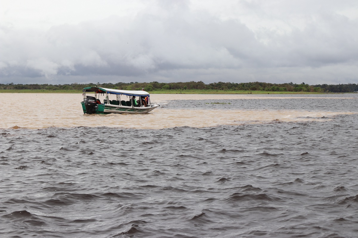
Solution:
M46 90L46 89L1 89L0 93L82 93L82 90ZM245 91L245 90L158 90L150 94L323 94L319 92L271 92L271 91Z

